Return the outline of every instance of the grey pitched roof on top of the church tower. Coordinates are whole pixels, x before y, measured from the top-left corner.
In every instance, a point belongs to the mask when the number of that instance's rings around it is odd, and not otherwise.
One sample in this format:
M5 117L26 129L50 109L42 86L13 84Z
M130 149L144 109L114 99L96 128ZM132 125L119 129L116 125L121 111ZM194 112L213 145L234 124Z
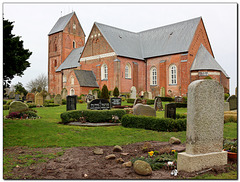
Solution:
M74 12L59 18L57 23L53 26L52 30L49 32L48 35L63 31L73 15Z

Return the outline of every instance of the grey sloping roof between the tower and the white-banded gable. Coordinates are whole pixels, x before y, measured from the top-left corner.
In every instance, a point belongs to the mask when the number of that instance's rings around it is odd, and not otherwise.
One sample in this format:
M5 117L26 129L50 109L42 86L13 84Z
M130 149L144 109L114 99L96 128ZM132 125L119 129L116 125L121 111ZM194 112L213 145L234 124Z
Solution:
M64 60L64 62L58 67L56 72L80 66L78 61L81 57L82 51L83 47L73 49L72 52L68 55L68 57Z

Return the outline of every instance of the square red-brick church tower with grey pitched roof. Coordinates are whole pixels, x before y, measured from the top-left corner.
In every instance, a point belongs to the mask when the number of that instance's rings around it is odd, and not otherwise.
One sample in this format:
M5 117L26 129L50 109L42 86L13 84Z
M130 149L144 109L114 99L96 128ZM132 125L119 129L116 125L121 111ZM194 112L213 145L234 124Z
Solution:
M75 12L58 19L48 34L48 92L61 94L63 73L56 72L75 48L83 47L85 33Z

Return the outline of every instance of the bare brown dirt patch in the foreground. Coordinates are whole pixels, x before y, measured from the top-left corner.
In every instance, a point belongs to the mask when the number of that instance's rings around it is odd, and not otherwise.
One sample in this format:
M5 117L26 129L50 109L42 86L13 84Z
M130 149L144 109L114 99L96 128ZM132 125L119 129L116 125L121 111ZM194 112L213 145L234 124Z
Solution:
M14 167L11 177L4 179L186 179L196 176L197 173L179 172L177 177L171 176L171 170L161 169L153 171L151 176L140 176L133 171L133 168L124 168L116 159L122 158L128 162L132 158L144 156L147 152L142 151L145 142L124 145L122 152L113 152L112 146L100 146L103 149L103 155L95 155L93 150L96 147L73 147L66 149L61 156L55 156L47 162L32 164L27 167ZM163 148L174 150L184 150L184 145L169 145L167 142L151 141L152 150L161 151ZM41 152L42 154L59 153L61 148L21 148L12 147L4 149L4 155L13 154L15 157L23 154L33 154ZM122 155L121 153L128 153ZM115 154L116 159L106 160L109 154ZM230 165L230 164L229 164ZM227 171L226 166L212 168L208 173L218 174Z

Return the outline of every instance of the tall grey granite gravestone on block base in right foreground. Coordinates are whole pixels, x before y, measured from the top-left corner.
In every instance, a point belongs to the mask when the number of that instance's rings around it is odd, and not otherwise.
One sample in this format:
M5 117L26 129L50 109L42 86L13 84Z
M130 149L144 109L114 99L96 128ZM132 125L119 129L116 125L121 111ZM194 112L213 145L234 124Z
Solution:
M186 152L178 153L178 171L194 172L227 164L223 148L224 89L215 80L188 86Z

